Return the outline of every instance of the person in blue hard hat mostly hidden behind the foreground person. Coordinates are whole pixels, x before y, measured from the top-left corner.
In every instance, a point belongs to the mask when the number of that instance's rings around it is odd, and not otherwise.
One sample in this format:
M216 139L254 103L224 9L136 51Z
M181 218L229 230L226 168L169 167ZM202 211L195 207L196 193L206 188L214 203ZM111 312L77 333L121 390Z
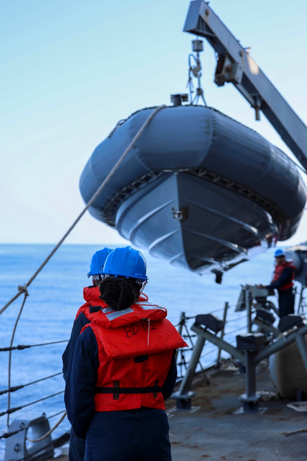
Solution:
M82 328L87 325L90 320L83 314L82 310L85 307L89 306L104 306L104 301L100 299L99 283L102 280L101 272L104 268L104 262L107 259L107 256L113 251L110 248L103 248L102 250L96 251L93 254L91 260L90 271L87 273L87 278L92 277L92 285L85 287L83 289L83 297L86 301L79 307L76 316L74 325L71 331L70 340L67 343L66 349L62 356L63 360L63 376L66 381L67 369L70 362L70 356L75 345L75 340L80 335ZM139 298L139 301L148 301L148 296L143 293ZM70 430L70 449L69 449L69 461L83 461L85 454L85 440L75 436L73 429Z

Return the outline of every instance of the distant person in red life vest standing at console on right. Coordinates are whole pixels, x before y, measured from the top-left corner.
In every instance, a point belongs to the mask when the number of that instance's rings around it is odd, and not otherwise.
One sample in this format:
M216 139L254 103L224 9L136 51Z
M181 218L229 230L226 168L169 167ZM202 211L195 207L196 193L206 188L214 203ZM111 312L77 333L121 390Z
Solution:
M276 266L270 285L257 285L259 288L278 290L279 317L294 313L295 296L292 293L295 267L292 261L286 261L283 250L275 251Z

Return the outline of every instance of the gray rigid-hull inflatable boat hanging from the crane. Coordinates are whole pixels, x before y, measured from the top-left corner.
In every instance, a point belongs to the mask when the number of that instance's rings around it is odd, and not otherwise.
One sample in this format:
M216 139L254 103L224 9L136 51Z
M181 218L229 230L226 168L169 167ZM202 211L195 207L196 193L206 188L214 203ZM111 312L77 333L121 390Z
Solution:
M82 172L89 201L154 108L133 113ZM291 160L211 107L170 106L151 120L90 213L133 245L191 271L226 271L292 236L306 189Z

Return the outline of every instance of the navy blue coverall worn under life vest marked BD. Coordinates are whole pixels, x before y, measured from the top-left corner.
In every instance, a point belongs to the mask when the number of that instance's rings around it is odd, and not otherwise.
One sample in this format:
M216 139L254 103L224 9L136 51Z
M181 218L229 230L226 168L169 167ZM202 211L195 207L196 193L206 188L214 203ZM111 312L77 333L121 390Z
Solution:
M162 395L167 399L177 378L175 352ZM136 357L134 360L138 360ZM171 461L165 411L139 408L95 412L98 344L91 328L77 337L68 367L64 401L77 437L86 438L85 461Z

